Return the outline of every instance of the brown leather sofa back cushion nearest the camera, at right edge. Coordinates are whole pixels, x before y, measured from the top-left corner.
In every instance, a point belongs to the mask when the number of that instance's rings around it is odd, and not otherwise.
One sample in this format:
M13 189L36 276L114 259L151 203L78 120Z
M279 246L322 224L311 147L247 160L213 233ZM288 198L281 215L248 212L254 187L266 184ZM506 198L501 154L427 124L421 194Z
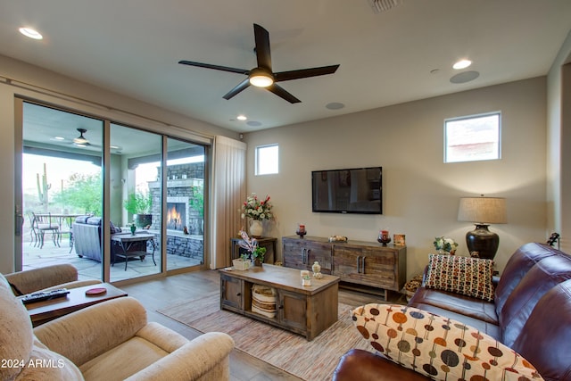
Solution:
M571 380L571 280L552 287L537 305L512 345L542 377Z

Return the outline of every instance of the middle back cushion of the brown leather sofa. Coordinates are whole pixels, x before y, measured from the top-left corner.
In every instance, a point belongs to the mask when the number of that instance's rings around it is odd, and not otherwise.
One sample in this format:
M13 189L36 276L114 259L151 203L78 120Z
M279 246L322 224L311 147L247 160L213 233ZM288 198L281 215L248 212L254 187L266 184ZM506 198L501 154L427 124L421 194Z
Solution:
M498 316L502 343L511 346L542 296L567 279L571 279L568 255L552 255L535 263L511 292Z

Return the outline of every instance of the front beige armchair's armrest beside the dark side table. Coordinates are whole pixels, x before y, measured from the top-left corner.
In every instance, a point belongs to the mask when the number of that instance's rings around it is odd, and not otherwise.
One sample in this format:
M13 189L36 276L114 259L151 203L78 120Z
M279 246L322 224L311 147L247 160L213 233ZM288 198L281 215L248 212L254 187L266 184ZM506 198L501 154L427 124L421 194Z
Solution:
M34 334L50 350L79 367L128 341L145 326L145 307L127 296L49 321L34 328Z

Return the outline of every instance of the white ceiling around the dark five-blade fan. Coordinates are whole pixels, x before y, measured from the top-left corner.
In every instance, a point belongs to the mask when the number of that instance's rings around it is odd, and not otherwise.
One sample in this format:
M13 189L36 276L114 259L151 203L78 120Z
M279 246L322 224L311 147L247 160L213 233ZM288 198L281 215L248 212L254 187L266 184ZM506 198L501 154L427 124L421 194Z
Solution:
M401 0L380 13L368 1L0 0L0 54L247 132L542 76L571 29L569 0ZM227 101L243 75L178 64L252 69L253 23L269 30L274 71L339 70L281 82L302 100L289 104L256 87ZM460 58L474 63L452 70ZM451 83L468 70L479 77Z

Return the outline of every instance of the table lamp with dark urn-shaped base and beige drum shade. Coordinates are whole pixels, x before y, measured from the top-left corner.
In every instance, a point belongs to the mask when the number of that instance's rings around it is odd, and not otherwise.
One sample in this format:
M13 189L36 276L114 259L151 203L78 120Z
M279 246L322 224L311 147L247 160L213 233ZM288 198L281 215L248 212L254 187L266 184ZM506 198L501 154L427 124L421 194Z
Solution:
M498 251L500 236L488 230L490 224L505 224L506 199L500 197L462 197L458 210L459 221L475 222L476 229L466 233L470 253L492 260Z

